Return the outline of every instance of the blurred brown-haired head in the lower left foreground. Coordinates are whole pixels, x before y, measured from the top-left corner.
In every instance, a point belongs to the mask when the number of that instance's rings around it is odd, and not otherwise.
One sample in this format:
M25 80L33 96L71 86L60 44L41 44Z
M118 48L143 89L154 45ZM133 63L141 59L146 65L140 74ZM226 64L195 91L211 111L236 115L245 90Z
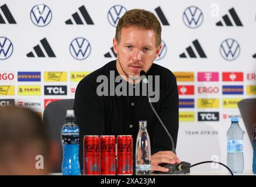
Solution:
M41 117L15 106L0 108L0 175L46 175L53 157Z

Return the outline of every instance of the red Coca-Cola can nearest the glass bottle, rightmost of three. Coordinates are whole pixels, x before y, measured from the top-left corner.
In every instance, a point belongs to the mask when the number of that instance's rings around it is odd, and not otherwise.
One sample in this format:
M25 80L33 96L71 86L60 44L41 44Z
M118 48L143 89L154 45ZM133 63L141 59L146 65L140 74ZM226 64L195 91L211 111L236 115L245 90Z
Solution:
M117 136L117 175L133 175L133 136Z

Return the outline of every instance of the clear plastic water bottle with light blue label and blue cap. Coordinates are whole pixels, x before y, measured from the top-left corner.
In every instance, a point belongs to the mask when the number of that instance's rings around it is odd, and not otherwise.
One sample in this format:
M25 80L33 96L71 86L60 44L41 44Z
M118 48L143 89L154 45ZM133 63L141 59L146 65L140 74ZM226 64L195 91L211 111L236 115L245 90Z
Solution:
M244 131L238 124L238 117L231 117L231 126L227 130L227 167L234 173L244 171L243 138Z

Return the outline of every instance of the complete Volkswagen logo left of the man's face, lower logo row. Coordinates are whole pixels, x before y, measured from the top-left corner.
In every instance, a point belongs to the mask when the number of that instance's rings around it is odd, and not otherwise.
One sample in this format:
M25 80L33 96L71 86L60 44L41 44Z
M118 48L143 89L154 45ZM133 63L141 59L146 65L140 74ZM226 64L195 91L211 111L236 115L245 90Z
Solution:
M71 41L70 54L77 60L84 60L91 53L91 44L83 37L77 37Z

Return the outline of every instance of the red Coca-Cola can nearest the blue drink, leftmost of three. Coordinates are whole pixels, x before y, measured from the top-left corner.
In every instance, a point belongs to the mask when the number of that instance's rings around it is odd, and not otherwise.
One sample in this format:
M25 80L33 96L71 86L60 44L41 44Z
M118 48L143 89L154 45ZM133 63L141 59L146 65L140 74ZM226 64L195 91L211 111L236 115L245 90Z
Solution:
M84 136L84 175L99 175L99 136Z

